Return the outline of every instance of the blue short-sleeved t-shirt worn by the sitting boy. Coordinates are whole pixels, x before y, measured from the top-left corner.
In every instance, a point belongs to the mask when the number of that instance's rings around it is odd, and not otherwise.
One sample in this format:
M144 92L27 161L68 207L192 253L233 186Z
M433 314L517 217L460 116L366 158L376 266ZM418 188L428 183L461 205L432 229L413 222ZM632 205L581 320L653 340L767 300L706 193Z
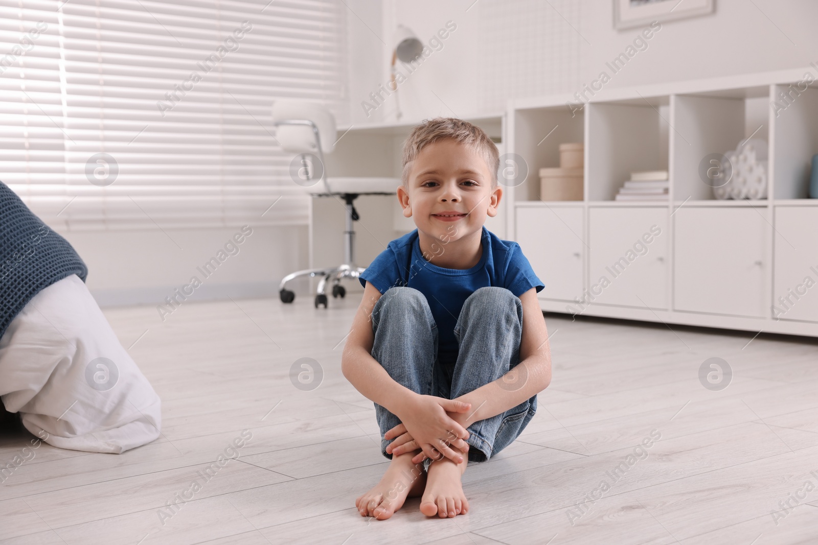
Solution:
M444 269L426 261L417 230L413 230L390 242L358 279L362 286L369 282L382 294L394 286L423 293L438 325L438 360L453 364L458 352L454 329L466 297L486 286L506 288L516 297L531 288L539 292L545 287L518 243L501 240L485 227L480 243L483 254L477 265Z

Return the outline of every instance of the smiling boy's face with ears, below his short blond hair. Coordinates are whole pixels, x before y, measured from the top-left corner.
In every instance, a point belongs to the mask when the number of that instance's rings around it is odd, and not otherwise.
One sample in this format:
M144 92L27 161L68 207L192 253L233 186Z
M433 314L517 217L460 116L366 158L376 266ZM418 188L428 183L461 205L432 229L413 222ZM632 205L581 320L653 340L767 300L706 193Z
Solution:
M497 216L502 189L492 188L483 157L452 139L427 145L412 162L407 187L398 187L403 216L434 239L457 240Z

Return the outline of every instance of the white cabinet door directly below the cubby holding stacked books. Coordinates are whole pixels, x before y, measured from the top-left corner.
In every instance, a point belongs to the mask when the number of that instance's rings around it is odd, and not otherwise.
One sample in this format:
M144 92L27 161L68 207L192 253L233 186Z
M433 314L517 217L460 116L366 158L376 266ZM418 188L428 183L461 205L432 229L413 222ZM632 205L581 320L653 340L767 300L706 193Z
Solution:
M587 299L667 309L667 207L589 210Z

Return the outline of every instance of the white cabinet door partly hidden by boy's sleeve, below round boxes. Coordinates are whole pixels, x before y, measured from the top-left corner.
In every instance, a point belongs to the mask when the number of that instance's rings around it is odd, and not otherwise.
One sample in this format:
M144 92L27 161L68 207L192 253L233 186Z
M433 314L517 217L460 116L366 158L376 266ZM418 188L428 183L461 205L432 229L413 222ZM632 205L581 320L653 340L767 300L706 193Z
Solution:
M582 295L582 208L520 207L517 243L545 284L539 297L573 301Z

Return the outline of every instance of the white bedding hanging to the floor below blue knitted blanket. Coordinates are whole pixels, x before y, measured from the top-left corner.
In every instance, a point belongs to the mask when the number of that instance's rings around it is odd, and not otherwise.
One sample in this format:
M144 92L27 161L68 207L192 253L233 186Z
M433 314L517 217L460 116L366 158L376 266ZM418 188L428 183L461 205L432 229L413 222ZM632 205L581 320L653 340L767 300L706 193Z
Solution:
M77 275L41 290L0 338L0 396L62 449L123 453L160 435L159 396Z

